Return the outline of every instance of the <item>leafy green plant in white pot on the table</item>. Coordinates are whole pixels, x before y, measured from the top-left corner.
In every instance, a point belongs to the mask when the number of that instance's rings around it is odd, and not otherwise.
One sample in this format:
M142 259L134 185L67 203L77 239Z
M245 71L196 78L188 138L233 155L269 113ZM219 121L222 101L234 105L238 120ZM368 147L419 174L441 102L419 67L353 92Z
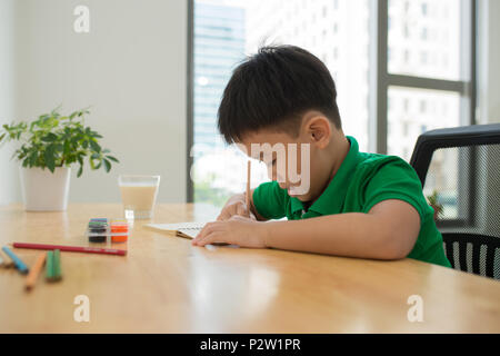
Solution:
M84 126L88 113L86 108L61 116L58 107L31 122L3 125L0 145L7 141L21 144L12 158L21 162L21 188L27 210L66 210L73 164L80 166L77 174L80 177L86 158L91 169L103 167L107 172L112 161L118 162L109 149L99 145L102 136Z

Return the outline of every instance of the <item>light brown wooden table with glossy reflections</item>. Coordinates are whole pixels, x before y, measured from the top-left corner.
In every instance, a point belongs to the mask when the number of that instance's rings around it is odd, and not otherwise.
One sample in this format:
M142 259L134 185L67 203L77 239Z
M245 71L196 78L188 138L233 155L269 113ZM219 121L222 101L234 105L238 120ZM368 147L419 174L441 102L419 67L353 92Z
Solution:
M153 221L202 219L193 205L160 205ZM198 212L197 212L198 211ZM0 207L0 243L88 245L91 217L120 205L66 212ZM412 259L376 261L272 249L192 247L134 222L126 257L62 253L63 280L27 293L0 269L1 333L499 333L500 283ZM28 265L39 251L13 249ZM77 323L76 296L90 300ZM423 301L410 323L408 298Z

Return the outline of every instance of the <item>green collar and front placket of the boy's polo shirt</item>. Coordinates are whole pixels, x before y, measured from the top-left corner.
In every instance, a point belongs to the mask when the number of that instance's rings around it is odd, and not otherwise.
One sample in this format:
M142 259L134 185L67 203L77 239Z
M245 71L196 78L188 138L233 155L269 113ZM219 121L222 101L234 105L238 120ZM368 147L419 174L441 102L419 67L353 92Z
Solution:
M291 197L290 204L291 212L293 215L313 217L318 215L332 215L341 211L350 182L349 177L351 177L353 169L361 159L359 155L358 141L351 136L347 136L347 139L351 144L351 147L349 148L348 155L343 159L339 170L331 179L327 189L324 189L321 196L311 205L306 214L302 201L296 197Z

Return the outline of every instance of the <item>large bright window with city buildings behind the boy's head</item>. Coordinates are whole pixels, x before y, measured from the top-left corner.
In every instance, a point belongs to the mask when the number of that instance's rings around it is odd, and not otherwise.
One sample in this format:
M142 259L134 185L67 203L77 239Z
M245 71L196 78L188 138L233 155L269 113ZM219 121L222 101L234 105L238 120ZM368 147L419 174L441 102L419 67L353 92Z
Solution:
M422 130L473 122L472 0L190 1L190 201L221 206L244 189L247 158L222 142L217 109L232 69L261 43L297 44L326 62L361 150L408 160ZM254 162L252 186L264 180Z

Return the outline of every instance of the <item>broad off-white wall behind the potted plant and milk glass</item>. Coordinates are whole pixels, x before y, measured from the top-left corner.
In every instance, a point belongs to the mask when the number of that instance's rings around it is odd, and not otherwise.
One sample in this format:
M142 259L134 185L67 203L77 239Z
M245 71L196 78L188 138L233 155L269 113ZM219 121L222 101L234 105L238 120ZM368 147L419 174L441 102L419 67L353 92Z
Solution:
M73 30L79 4L89 33ZM186 1L17 0L14 11L16 118L91 106L86 123L121 161L81 178L74 166L70 201L119 201L119 174L159 174L159 201L184 201Z

